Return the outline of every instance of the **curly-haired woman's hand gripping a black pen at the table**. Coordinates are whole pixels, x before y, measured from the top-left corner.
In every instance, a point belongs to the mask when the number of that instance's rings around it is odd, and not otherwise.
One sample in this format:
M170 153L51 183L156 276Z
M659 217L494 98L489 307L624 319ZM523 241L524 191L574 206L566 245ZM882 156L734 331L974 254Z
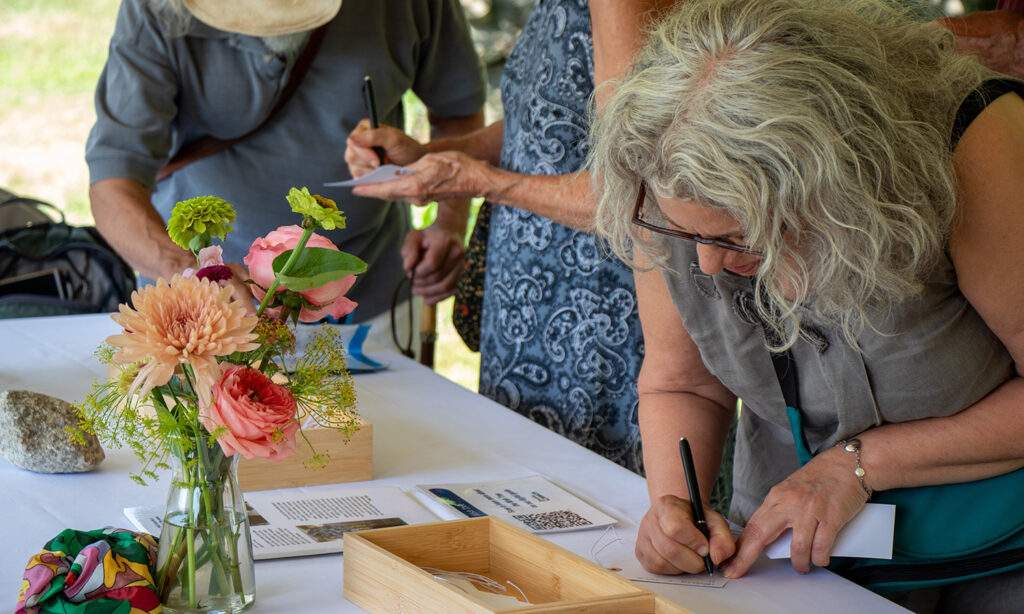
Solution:
M729 524L714 510L705 508L711 540L693 524L690 501L667 494L658 498L640 522L636 557L651 573L678 575L703 573L703 555L721 563L736 550Z

